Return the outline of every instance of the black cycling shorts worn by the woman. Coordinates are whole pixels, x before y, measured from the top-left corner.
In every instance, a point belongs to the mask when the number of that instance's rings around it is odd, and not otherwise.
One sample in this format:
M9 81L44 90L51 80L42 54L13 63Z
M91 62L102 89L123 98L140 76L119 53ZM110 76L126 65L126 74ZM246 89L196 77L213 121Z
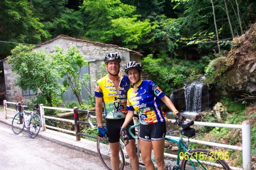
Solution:
M166 122L140 125L139 138L144 141L157 141L166 137Z

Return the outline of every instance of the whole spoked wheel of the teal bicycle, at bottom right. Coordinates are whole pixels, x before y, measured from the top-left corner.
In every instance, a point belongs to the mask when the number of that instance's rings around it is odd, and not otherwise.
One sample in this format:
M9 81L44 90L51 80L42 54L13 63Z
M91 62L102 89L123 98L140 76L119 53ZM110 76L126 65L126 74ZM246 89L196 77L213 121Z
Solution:
M181 169L230 169L223 152L195 149L183 157Z

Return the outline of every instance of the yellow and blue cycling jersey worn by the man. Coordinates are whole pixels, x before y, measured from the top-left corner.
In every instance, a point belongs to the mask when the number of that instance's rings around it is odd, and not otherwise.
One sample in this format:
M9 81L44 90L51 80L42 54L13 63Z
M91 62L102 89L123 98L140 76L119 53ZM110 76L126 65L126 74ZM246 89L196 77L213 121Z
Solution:
M125 118L127 114L127 91L130 88L130 80L127 75L122 75L119 83L119 92L114 86L114 83L106 75L97 81L94 95L102 97L104 101L104 108L106 119Z

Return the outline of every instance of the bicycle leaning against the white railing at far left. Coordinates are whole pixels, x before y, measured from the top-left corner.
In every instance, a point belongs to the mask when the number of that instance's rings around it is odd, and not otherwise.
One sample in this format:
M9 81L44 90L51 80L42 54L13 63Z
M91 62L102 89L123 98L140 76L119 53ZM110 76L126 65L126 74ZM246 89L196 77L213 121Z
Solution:
M15 105L16 111L19 111L13 117L11 122L11 129L14 134L20 134L24 128L27 128L27 134L30 138L35 138L42 126L41 117L37 114L39 111L38 104L31 105L33 111L27 111L28 105L18 104ZM17 107L19 108L17 110Z

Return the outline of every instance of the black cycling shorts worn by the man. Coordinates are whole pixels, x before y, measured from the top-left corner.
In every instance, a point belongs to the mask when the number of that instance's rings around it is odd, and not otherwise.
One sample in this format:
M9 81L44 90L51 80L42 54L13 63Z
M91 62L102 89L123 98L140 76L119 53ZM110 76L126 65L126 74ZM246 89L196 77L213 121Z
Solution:
M106 120L106 129L108 129L108 133L109 133L109 143L119 142L120 130L123 125L123 122L125 122L125 118ZM126 134L129 137L129 139L134 139L129 133L129 128L133 125L134 125L134 122L133 120L131 120L126 127ZM131 131L135 135L135 129L132 129Z

